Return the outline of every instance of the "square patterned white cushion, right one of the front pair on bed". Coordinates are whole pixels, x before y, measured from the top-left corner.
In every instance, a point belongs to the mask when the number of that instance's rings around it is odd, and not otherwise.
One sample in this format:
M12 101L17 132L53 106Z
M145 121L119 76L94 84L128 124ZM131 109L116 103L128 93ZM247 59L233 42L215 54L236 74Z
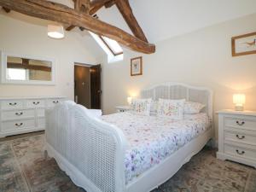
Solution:
M158 116L167 116L171 119L181 120L183 119L183 108L185 100L167 100L159 99L158 102Z

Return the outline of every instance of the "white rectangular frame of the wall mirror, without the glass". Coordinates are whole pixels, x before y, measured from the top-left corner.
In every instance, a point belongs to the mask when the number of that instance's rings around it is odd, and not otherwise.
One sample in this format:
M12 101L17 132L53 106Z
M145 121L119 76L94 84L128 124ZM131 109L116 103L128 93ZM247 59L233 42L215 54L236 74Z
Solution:
M25 59L32 60L42 60L42 61L50 61L52 63L52 71L51 71L51 80L50 81L41 81L41 80L10 80L6 78L7 71L7 57L15 56L21 57ZM55 59L49 59L45 57L36 57L31 55L15 55L3 52L0 50L0 71L1 71L1 84L40 84L40 85L55 85Z

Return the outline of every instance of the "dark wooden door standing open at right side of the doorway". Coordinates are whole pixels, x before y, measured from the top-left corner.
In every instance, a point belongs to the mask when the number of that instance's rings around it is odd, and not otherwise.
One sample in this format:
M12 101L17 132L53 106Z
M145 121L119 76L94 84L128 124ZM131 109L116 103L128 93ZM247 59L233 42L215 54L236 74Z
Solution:
M102 108L102 67L90 67L90 108Z

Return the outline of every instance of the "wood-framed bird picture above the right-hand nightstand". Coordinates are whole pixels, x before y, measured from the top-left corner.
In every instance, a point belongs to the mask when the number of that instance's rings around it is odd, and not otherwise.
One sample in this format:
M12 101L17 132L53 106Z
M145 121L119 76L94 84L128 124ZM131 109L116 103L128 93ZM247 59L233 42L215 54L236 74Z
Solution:
M232 38L232 56L256 54L256 32Z

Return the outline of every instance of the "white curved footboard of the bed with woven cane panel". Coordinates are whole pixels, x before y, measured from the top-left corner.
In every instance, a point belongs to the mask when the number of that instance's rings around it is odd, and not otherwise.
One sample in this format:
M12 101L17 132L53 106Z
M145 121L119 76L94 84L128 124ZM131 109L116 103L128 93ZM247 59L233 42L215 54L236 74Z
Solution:
M87 192L125 191L126 140L86 108L64 103L46 114L46 150Z

